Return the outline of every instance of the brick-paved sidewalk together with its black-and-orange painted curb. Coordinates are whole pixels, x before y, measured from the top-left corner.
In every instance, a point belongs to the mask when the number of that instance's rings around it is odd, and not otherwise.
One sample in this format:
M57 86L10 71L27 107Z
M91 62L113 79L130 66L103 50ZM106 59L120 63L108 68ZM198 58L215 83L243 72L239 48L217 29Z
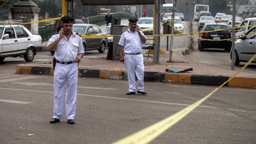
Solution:
M44 48L47 42L43 43ZM188 50L188 49L187 49ZM216 68L208 64L197 63L188 60L183 54L184 49L174 49L172 53L173 62L169 61L169 51L162 50L166 54L160 54L159 64L153 63L152 58L145 54L144 57L144 81L145 82L166 82L175 84L202 84L202 85L221 85L233 76L238 70L230 68ZM150 54L153 57L153 54ZM193 71L185 73L165 72L165 69L184 69L193 68ZM100 77L105 79L128 79L124 64L119 60L106 60L104 58L83 58L78 66L80 77ZM53 75L52 62L22 64L16 67L17 74L44 74ZM256 88L256 73L241 72L226 86Z

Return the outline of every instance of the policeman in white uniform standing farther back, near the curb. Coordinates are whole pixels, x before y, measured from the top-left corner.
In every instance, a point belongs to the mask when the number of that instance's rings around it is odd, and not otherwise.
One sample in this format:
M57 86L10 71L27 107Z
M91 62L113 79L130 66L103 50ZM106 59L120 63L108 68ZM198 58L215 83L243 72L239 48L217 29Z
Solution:
M147 94L144 91L144 62L143 55L141 54L141 42L146 43L147 38L139 29L137 19L129 19L129 29L123 31L118 45L120 45L120 61L124 62L129 82L129 92L126 93L136 94L135 89L135 74L138 78L137 92L140 94ZM125 55L123 56L123 51Z

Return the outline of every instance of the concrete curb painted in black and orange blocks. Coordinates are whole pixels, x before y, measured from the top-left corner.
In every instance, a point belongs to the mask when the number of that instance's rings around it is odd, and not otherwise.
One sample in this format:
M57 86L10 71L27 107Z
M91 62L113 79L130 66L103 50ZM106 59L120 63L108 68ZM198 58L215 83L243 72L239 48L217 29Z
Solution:
M52 67L28 66L25 64L20 64L16 67L16 74L53 75L53 73L54 71ZM78 68L78 76L128 80L127 72L118 70ZM221 85L229 78L230 77L228 76L190 75L148 71L145 71L144 73L145 82L164 82L172 84ZM235 77L225 84L225 86L256 88L256 78Z

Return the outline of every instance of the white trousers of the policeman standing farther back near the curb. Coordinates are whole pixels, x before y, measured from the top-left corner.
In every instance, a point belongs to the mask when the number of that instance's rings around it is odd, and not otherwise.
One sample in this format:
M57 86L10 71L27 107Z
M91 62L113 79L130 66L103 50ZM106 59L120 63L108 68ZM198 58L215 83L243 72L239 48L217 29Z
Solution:
M144 92L144 62L142 54L125 54L124 65L128 75L129 92L136 92L135 74L138 78L137 90Z

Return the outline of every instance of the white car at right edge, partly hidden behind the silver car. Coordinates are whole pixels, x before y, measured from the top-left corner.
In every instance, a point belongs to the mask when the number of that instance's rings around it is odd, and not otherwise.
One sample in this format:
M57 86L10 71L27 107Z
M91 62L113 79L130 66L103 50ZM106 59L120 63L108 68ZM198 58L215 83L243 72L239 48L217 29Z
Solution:
M246 18L244 19L244 21L242 22L242 24L240 25L240 27L242 26L250 26L256 24L256 17L252 17L252 18ZM251 26L252 27L252 26ZM240 28L240 29L236 29L236 37L237 36L241 36L243 35L245 32L248 31L248 29L250 29L251 27L244 27L244 28Z

